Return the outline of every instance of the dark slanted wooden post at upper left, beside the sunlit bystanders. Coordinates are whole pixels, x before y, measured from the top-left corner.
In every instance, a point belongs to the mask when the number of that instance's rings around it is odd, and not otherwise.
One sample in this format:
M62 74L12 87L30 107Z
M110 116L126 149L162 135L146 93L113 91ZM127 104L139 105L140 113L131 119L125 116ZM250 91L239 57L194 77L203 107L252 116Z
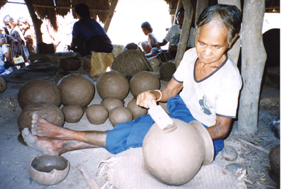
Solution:
M35 15L35 9L33 9L33 2L32 0L25 0L26 6L28 7L28 12L31 15L31 20L33 21L33 27L35 28L35 39L36 42L43 42L43 33L40 31L41 24L43 21L38 19Z

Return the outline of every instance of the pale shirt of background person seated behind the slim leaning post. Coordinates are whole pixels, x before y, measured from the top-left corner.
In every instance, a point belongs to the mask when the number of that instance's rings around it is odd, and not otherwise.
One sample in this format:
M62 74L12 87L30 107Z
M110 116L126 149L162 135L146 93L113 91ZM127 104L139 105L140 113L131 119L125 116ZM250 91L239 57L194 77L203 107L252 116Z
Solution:
M182 33L180 25L174 24L170 27L170 30L168 30L164 40L170 42L171 45L178 46L180 43L180 33ZM195 47L195 28L190 28L190 38L187 41L187 47Z

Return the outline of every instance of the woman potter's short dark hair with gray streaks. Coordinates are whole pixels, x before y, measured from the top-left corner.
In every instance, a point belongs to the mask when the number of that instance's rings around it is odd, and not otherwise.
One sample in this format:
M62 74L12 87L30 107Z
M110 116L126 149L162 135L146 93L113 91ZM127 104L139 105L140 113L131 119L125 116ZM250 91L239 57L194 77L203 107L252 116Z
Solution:
M195 40L199 37L203 25L218 21L229 30L228 42L232 42L241 29L241 11L234 5L214 4L205 8L196 23Z

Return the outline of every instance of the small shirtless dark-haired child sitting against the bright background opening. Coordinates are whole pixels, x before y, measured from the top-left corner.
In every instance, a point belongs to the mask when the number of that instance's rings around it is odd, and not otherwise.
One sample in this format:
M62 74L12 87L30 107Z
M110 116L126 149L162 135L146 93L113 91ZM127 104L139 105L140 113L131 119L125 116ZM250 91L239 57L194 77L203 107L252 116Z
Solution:
M155 47L155 44L158 43L157 38L153 35L153 28L151 27L150 23L144 22L141 25L142 31L145 35L148 36L148 41L138 42L138 45L141 45L143 51L148 54L151 52L152 48Z

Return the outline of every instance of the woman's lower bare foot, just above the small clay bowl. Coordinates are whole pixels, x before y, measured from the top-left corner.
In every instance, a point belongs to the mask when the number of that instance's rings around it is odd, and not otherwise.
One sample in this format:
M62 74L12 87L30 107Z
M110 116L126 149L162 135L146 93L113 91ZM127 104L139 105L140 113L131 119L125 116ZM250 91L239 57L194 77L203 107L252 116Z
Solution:
M48 137L37 137L31 134L28 128L22 131L23 140L29 147L41 151L43 154L60 155L62 141L50 139Z

